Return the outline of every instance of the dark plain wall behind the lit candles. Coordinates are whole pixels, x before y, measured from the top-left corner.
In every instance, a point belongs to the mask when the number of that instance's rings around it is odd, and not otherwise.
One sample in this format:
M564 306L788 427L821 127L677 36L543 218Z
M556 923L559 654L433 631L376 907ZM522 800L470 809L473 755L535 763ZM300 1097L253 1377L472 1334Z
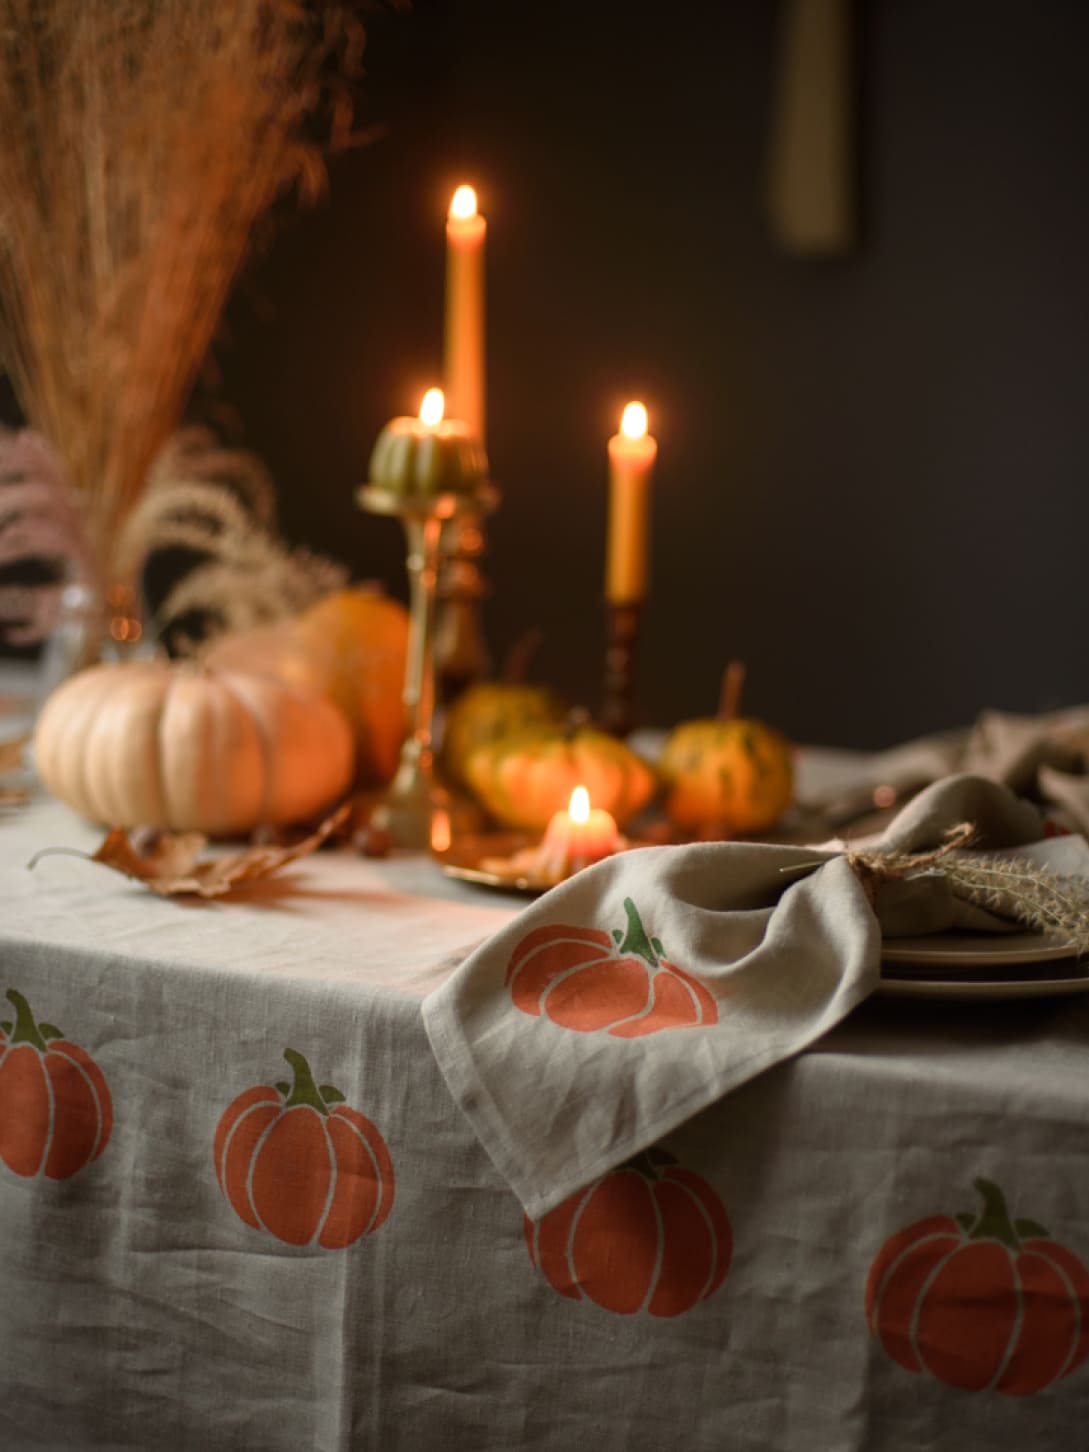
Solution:
M443 215L489 222L498 659L597 704L605 439L659 440L642 714L727 658L799 739L877 746L1089 698L1083 0L858 6L865 235L777 251L777 4L417 0L370 25L363 115L229 309L222 396L286 534L404 594L353 489L439 379Z

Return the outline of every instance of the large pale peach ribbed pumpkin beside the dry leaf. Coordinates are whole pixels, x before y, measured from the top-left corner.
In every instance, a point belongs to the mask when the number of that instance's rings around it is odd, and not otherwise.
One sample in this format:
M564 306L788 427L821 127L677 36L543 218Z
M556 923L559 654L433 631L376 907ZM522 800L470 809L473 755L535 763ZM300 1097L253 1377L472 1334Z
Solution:
M45 701L45 787L107 826L240 836L302 822L343 796L351 729L314 691L167 661L94 665Z

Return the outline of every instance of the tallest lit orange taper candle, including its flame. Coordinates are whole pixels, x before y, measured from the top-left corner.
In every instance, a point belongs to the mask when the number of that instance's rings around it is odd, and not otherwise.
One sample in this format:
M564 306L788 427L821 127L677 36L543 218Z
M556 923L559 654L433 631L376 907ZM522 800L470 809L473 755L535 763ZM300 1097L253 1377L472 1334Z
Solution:
M484 443L484 244L488 224L476 193L459 186L446 218L446 335L443 382L446 408L463 418Z

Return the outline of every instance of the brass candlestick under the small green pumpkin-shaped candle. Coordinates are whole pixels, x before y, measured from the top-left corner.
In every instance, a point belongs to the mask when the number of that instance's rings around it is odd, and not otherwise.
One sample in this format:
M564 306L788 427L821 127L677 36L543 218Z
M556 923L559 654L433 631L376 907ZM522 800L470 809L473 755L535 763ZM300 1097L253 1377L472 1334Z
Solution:
M436 813L446 810L446 793L433 774L436 578L443 533L463 513L492 508L498 492L481 482L466 494L405 495L367 484L356 495L370 514L396 515L408 550L409 617L405 661L405 742L389 790L375 809L373 825L389 833L393 847L427 849Z

